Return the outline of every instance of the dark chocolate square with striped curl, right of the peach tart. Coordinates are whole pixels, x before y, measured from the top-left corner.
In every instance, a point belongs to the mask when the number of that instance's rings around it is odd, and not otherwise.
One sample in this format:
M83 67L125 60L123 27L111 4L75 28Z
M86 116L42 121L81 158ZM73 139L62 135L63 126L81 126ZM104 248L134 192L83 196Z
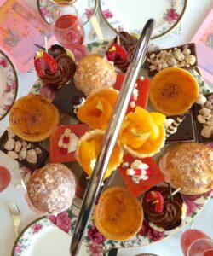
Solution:
M167 137L165 143L185 143L185 142L193 142L196 140L194 125L193 125L193 116L191 113L186 113L185 119L181 122L177 127L177 131L174 134L171 134ZM178 116L173 115L170 116L170 119L176 120Z

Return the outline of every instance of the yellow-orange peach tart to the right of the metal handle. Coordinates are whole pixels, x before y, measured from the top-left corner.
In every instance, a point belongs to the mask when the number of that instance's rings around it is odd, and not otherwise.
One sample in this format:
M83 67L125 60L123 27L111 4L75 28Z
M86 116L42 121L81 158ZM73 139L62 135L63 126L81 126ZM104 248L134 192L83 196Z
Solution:
M124 149L136 157L148 157L158 153L165 142L165 116L162 113L149 113L136 107L128 113L119 133Z

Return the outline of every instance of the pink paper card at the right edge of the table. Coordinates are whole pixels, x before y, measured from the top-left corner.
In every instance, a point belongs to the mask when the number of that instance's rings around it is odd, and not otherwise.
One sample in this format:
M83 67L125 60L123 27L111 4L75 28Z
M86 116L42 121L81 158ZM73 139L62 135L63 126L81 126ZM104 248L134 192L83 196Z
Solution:
M199 70L204 79L213 83L213 9L193 36L199 61Z

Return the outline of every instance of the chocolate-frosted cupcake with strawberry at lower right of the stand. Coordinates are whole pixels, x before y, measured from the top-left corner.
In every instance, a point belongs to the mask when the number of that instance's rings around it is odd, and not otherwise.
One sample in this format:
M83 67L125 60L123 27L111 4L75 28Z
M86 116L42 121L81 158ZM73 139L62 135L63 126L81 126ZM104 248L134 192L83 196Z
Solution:
M173 230L185 218L185 204L180 193L173 195L166 187L155 187L147 191L142 202L145 218L155 230Z

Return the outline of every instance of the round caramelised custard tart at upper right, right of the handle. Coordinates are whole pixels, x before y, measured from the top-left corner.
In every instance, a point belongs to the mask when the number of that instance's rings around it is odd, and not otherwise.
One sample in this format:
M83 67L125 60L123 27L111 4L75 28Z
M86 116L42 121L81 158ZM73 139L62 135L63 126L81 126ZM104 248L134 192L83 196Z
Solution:
M191 73L168 67L153 77L149 99L155 110L170 116L186 113L198 96L199 84Z

